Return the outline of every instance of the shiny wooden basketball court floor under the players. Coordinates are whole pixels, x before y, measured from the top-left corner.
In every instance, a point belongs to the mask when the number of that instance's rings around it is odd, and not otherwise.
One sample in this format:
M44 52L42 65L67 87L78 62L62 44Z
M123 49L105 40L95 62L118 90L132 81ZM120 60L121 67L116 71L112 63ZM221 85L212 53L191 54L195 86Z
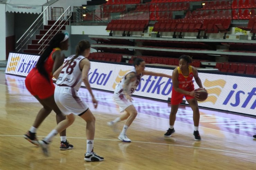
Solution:
M33 124L41 105L27 91L24 78L0 72L0 170L76 169L76 170L253 170L256 168L256 119L200 109L199 132L202 141L195 141L190 107L181 106L170 138L168 129L170 106L166 102L134 98L138 116L128 129L131 143L118 140L118 133L106 124L120 115L112 94L94 90L99 100L91 109L96 118L94 152L102 162L85 162L85 125L79 117L67 129L67 140L74 149L61 151L60 138L54 138L50 156L23 138ZM81 89L80 96L92 107L90 95ZM228 118L230 124L216 118ZM211 119L210 119L211 118ZM224 123L227 123L227 121ZM231 123L236 121L237 123ZM238 123L240 121L240 123ZM213 123L214 122L214 123ZM250 124L245 130L242 125ZM118 124L121 130L124 122ZM52 112L37 131L42 139L56 126ZM237 126L240 128L234 128Z

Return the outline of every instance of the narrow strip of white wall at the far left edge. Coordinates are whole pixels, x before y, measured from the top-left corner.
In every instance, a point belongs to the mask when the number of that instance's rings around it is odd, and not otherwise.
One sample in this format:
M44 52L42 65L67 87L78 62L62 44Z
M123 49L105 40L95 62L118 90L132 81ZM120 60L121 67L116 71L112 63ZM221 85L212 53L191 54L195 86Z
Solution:
M6 14L5 3L0 3L0 61L6 60Z

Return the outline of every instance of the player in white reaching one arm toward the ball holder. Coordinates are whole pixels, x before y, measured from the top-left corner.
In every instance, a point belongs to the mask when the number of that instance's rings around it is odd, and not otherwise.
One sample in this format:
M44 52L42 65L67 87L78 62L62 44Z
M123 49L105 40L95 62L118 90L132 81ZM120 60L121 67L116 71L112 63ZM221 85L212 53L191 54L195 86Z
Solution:
M167 77L172 78L172 76L164 73L146 71L145 69L145 61L141 58L134 58L134 68L129 71L125 76L122 78L121 82L117 84L115 92L114 92L114 100L119 105L120 112L124 112L120 117L116 118L113 121L108 122L108 126L113 127L115 130L115 126L117 122L126 120L126 123L118 136L118 139L123 142L131 142L131 140L127 137L126 132L129 126L131 125L132 121L137 116L137 110L132 104L131 94L134 93L137 86L140 83L140 79L144 75L150 76L160 76L160 77Z

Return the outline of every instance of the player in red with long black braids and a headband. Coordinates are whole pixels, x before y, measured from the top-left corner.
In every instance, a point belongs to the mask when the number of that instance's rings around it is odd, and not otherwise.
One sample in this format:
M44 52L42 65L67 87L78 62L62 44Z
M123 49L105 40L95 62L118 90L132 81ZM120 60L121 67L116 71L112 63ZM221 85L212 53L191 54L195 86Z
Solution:
M49 46L44 50L39 57L36 67L33 68L25 79L25 85L28 91L43 105L43 108L38 112L36 120L29 131L24 134L24 138L31 143L39 146L36 131L44 119L51 113L52 110L56 113L57 123L65 119L60 109L54 101L53 72L56 71L64 61L62 50L68 50L68 35L57 33L49 42ZM61 150L73 149L73 145L66 140L66 130L60 132Z

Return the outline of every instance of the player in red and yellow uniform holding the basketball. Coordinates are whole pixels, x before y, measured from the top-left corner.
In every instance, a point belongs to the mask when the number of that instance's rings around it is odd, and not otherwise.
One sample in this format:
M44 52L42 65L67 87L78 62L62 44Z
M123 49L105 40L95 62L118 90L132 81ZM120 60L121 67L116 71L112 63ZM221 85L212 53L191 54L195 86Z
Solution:
M182 55L179 58L179 67L175 68L172 73L172 98L171 98L171 113L170 113L170 128L164 134L164 137L171 137L175 132L173 126L176 119L176 113L179 109L179 105L185 96L191 109L193 110L194 121L194 136L196 141L200 141L201 137L198 132L200 113L197 100L194 97L198 97L198 92L194 91L194 84L192 82L193 77L195 82L200 88L202 88L202 82L198 77L198 71L195 67L190 66L192 58L190 56Z

